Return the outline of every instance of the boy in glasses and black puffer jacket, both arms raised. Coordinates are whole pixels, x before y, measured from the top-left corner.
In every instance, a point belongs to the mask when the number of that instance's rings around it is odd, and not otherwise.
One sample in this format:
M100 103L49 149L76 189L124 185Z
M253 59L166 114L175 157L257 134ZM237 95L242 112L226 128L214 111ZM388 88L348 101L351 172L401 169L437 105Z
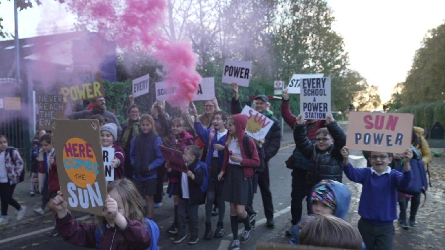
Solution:
M317 130L316 144L307 139L305 120L301 115L296 118L294 139L295 145L303 156L309 161L305 193L309 197L311 190L319 181L324 179L341 182L343 157L340 150L346 144L346 135L336 123L332 114L326 119L326 128ZM312 214L312 211L307 211Z

